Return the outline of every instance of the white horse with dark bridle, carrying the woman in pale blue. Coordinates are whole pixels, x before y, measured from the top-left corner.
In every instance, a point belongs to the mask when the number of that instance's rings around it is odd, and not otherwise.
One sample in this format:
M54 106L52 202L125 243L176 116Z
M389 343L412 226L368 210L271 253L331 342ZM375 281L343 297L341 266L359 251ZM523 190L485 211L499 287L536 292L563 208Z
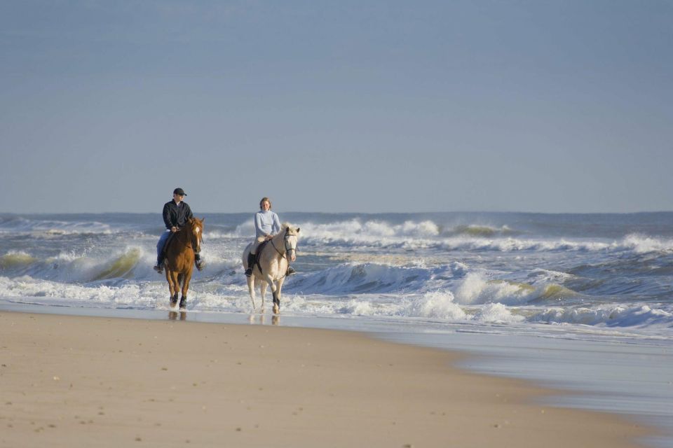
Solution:
M261 311L264 311L264 294L266 287L271 285L273 293L273 314L280 313L280 290L283 288L285 274L289 262L287 258L294 261L297 259L297 239L299 239L299 228L292 228L289 224L283 223L282 230L274 236L264 247L257 248L258 263L252 267L252 276L247 277L247 289L250 291L250 300L252 300L252 310L254 306L254 287L257 283L260 285L261 293ZM247 254L250 253L252 243L248 244L243 251L243 269L247 269ZM259 270L261 267L261 271Z

